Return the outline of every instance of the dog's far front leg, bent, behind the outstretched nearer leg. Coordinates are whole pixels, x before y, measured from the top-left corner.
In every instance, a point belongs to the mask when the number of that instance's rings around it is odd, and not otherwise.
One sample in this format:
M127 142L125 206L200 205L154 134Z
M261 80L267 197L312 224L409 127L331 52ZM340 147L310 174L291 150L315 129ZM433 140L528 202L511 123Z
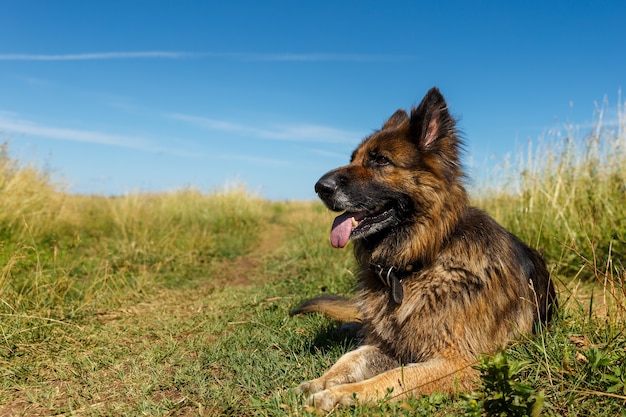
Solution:
M371 378L397 366L397 360L390 358L377 347L361 346L339 358L321 377L300 384L298 390L314 394L335 385Z

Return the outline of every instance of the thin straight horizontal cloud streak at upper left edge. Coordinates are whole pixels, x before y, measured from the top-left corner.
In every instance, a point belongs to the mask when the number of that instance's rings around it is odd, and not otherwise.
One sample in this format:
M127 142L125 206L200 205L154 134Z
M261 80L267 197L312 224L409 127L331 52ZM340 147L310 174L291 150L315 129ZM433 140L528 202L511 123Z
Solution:
M94 52L81 54L0 54L0 61L90 61L138 58L179 59L194 55L196 54L172 51Z

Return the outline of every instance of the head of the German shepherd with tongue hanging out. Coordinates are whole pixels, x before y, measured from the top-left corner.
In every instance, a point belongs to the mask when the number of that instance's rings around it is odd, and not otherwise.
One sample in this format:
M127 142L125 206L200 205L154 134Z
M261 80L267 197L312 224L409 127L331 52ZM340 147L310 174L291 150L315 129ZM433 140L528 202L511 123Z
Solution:
M331 210L343 211L332 226L331 243L410 228L420 217L436 216L448 186L462 176L460 141L446 102L432 88L407 114L396 111L382 129L353 152L349 165L315 184Z

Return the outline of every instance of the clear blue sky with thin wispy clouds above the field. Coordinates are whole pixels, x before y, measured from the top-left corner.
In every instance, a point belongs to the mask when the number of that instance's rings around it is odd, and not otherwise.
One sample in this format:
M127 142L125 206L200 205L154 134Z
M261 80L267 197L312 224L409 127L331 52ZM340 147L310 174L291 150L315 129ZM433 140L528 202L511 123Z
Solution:
M76 193L313 199L433 85L477 172L626 82L623 1L23 0L0 39L0 140Z

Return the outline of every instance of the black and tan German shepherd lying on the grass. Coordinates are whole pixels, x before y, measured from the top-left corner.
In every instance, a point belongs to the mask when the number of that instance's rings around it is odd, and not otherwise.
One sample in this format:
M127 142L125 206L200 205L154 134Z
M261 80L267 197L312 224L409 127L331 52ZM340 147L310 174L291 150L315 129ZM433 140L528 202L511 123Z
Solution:
M363 345L298 389L331 410L470 390L480 354L545 325L556 306L541 255L484 212L463 185L461 139L437 88L396 111L315 191L333 211L330 241L354 241L358 293L312 299L319 311L362 323ZM389 394L391 392L391 394Z

